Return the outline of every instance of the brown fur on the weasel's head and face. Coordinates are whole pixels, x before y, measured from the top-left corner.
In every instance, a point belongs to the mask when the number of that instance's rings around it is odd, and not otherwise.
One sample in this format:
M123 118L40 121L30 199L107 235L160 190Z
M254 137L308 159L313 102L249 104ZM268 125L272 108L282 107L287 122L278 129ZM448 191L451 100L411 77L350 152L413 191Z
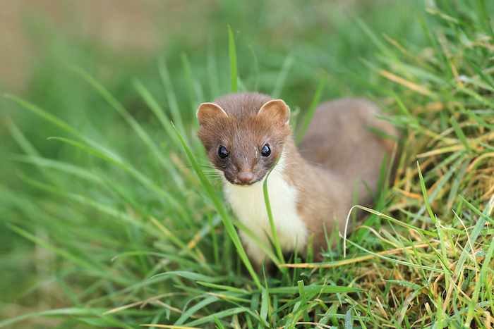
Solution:
M231 183L238 183L237 177L246 171L253 173L253 182L262 180L275 165L283 144L291 134L284 119L285 113L279 112L277 104L270 108L270 112L258 115L260 108L268 101L272 98L261 94L228 94L215 100L214 104L219 109L212 108L211 103L201 104L198 109L198 137L210 162L222 170ZM221 110L227 116L217 115ZM253 151L262 149L265 144L271 145L273 154L269 159L259 160L253 156ZM218 158L219 145L227 148L231 163Z

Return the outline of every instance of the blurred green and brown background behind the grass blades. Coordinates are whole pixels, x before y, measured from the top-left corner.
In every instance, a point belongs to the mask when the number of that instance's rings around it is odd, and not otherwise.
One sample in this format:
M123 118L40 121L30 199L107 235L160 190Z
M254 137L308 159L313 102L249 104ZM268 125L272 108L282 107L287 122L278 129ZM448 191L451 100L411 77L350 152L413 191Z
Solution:
M348 78L357 75L376 80L367 63L379 59L355 16L375 35L399 39L418 56L430 51L414 12L423 11L422 7L421 1L398 0L3 0L0 91L44 108L105 147L125 154L140 168L147 163L140 140L129 133L119 113L69 68L71 65L87 70L107 87L159 144L163 142L162 128L133 87L135 78L143 82L169 113L169 99L157 66L159 58L166 59L179 108L186 109L183 119L189 125L193 108L201 101L229 92L230 25L245 89L258 85L258 91L266 94L277 91L292 109L304 111L322 71L327 72L323 99L371 97L366 87ZM193 90L184 63L190 64ZM211 75L212 70L217 75ZM286 78L279 79L283 73ZM282 84L277 85L280 81ZM71 146L48 140L67 134L1 97L0 195L8 199L15 194L37 204L45 192L26 184L19 175L40 178L42 173L16 161L16 154L23 151L8 131L10 120L48 159L81 164L88 157L79 156ZM71 181L64 180L64 185L71 185ZM73 188L82 190L78 185ZM0 203L0 318L67 306L65 299L33 298L27 292L40 278L50 275L46 268L36 268L32 258L51 256L6 229L4 222L10 221L24 223L30 230L30 222L18 211L21 205L6 204ZM48 213L56 213L56 207L56 198L48 203L44 199L43 208ZM35 234L43 239L47 233Z

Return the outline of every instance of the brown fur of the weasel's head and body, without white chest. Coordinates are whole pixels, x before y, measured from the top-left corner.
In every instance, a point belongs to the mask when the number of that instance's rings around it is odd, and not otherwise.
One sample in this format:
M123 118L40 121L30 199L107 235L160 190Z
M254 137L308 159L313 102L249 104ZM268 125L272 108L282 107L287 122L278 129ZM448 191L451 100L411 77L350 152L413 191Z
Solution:
M338 230L343 230L354 204L357 178L360 181L357 204L372 204L373 199L361 180L376 192L383 156L387 153L389 159L392 153L393 143L367 127L394 137L398 137L398 132L391 123L376 118L379 112L376 104L363 99L337 99L318 106L297 151L287 121L289 108L283 111L284 102L275 101L266 111L260 111L271 100L257 93L229 94L214 101L223 113L210 105L201 105L198 137L211 163L224 171L231 183L239 183L236 175L246 171L253 173L255 182L259 182L283 150L286 155L283 173L289 185L299 192L297 211L314 234L315 259L321 261L320 251L326 246L323 224L331 234L336 219ZM260 149L266 143L272 145L272 156L269 159L253 156L253 147ZM231 162L219 161L218 145L231 152Z

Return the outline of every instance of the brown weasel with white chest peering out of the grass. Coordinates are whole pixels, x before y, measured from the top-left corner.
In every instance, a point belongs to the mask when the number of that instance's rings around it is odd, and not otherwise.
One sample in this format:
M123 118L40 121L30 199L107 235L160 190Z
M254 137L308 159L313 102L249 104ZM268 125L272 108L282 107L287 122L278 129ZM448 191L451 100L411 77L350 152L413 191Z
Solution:
M373 202L382 159L394 143L371 132L373 127L398 136L391 123L380 120L378 105L363 99L337 99L320 104L303 136L299 151L291 137L290 109L281 99L255 92L227 94L197 111L198 137L212 166L222 173L224 195L234 215L267 246L272 231L263 182L267 181L273 221L283 252L306 255L313 234L316 261L323 261L327 235L344 229L356 204ZM389 162L389 161L388 161ZM239 232L246 253L257 268L265 252Z

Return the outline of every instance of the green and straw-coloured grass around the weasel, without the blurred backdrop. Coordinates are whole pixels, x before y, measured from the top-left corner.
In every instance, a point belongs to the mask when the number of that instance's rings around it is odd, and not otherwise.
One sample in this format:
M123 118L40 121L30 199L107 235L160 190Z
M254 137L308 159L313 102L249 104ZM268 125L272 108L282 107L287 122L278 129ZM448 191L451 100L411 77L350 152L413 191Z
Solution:
M164 61L159 73L170 113L142 82L133 84L162 126L161 144L100 82L74 68L130 125L145 148L140 159L112 148L104 134L95 139L9 97L59 128L62 137L49 142L70 146L73 161L44 159L8 123L25 152L11 160L34 165L42 178L20 175L40 191L35 196L0 186L11 214L7 228L40 247L30 261L44 280L33 281L26 294L53 300L52 309L7 318L0 327L43 316L54 328L491 328L494 33L487 6L461 0L417 6L429 43L418 50L375 35L355 18L380 56L377 63L363 59L370 80L342 78L365 85L404 130L394 185L383 184L374 209L360 207L370 216L347 237L346 258L341 246L317 264L296 256L282 264L282 255L270 252L281 270L272 278L249 267L231 223L243 228L205 179L195 123L183 120L193 113L181 113ZM276 92L295 65L290 58ZM189 103L203 101L186 56L183 66ZM230 84L247 88L235 74ZM320 90L315 103L319 97Z

